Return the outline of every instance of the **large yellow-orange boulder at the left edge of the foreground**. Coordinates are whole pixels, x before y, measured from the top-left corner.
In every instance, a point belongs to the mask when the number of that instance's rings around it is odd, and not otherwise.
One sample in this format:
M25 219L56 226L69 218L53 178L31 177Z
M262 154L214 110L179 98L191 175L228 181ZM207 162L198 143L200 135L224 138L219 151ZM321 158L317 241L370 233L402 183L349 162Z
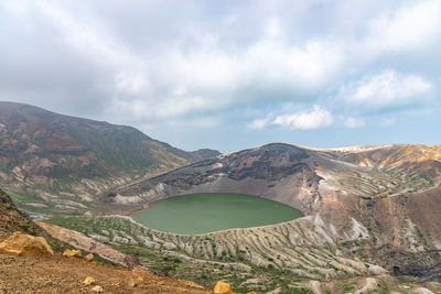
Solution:
M15 231L0 243L0 253L9 255L54 254L46 239L20 231Z

